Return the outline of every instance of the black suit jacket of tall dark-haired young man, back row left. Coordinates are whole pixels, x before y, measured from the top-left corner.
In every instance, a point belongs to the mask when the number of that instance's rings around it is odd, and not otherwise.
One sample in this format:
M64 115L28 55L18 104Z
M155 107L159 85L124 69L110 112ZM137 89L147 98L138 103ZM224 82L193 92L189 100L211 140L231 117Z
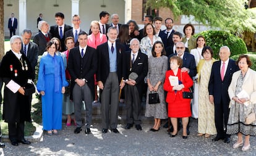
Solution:
M51 29L49 31L49 33L51 33L51 35L53 36L53 38L58 38L59 41L61 41L61 52L62 51L66 51L66 45L65 45L65 33L67 30L72 29L73 27L71 27L70 25L64 25L64 33L63 33L63 37L61 39L61 37L59 36L59 30L58 30L58 25L53 25L51 26Z

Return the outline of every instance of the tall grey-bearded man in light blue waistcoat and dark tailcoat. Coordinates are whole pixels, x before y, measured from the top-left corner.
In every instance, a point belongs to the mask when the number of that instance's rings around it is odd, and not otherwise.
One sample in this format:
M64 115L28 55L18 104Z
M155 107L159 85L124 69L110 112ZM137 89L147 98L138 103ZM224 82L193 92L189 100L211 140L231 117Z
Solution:
M107 133L109 126L111 131L119 133L117 130L118 97L119 89L124 87L124 81L122 81L122 57L125 47L116 43L116 28L110 27L107 35L108 42L97 47L98 72L96 80L101 93L102 133Z

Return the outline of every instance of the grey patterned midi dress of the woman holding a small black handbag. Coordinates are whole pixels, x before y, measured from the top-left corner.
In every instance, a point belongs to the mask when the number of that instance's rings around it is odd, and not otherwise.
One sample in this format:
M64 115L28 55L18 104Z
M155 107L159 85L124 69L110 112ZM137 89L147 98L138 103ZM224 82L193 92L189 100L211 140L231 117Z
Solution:
M162 83L158 87L158 95L160 99L159 104L148 104L148 96L146 101L145 117L154 118L168 118L166 112L166 104L164 100L163 82L165 72L168 68L168 57L162 55L161 57L153 57L152 55L148 59L148 75L150 83L155 86L158 81ZM150 93L149 89L147 95Z

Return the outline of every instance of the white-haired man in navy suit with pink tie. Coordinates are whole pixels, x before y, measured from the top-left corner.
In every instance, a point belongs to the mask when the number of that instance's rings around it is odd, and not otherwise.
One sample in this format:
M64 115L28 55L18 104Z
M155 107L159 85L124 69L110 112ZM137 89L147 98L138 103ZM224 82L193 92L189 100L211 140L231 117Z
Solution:
M229 96L228 87L232 80L234 72L239 70L235 61L229 59L231 54L228 46L220 48L220 60L213 63L211 67L211 76L208 85L209 100L215 106L215 126L217 136L213 141L224 139L224 142L230 142L230 134L226 134L229 117ZM223 120L225 130L223 128Z

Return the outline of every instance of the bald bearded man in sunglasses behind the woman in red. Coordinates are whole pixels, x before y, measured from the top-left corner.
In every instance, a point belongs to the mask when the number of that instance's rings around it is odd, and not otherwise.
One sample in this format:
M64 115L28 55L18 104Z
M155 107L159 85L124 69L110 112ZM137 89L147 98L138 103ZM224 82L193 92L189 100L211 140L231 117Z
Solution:
M193 76L197 75L197 67L195 66L195 57L192 54L189 54L188 52L185 52L185 44L182 42L177 42L176 43L176 53L169 55L168 60L173 55L177 55L181 57L182 59L182 68L181 72L187 72L189 73L190 78L193 78ZM170 69L169 67L170 64L168 64L168 70ZM189 123L190 123L190 118L189 118ZM189 123L187 124L187 134L189 135ZM181 120L179 119L178 123L178 128L181 128ZM172 129L172 128L171 128ZM171 130L172 131L172 130Z

